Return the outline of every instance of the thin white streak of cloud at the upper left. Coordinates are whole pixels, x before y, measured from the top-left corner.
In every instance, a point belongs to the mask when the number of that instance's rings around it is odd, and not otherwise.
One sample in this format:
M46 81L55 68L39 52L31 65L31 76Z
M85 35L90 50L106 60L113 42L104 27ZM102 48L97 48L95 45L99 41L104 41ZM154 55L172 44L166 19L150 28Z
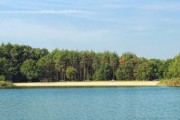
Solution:
M1 10L1 14L81 14L81 13L91 13L91 11L86 10Z

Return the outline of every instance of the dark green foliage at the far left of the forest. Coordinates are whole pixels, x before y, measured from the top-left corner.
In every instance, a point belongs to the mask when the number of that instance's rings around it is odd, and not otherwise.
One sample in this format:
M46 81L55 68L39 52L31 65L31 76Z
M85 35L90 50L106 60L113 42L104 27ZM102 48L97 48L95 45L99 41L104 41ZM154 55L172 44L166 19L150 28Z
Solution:
M27 79L21 74L20 67L27 59L38 60L48 54L47 49L31 48L26 45L0 45L0 74L12 82L25 82Z

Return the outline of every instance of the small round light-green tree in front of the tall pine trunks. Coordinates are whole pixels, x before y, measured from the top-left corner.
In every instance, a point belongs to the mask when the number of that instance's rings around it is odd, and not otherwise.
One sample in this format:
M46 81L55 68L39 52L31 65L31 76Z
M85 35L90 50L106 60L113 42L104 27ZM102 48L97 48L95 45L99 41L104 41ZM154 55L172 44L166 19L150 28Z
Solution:
M66 77L69 80L75 80L77 78L77 70L73 67L68 67L66 69Z

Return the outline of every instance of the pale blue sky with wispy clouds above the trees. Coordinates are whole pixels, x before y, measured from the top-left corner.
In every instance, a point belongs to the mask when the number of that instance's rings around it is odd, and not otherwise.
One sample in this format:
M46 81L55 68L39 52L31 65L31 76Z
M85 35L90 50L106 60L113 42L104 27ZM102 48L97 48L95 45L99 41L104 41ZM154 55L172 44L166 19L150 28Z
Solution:
M0 44L168 59L179 31L179 0L0 0Z

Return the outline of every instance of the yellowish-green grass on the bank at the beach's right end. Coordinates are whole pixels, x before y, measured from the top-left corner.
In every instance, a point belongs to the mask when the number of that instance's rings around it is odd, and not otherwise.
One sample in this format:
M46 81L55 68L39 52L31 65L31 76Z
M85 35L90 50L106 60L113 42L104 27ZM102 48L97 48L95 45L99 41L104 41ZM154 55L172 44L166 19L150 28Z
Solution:
M178 86L180 87L180 78L173 78L173 79L167 79L167 80L161 80L159 82L160 86Z

